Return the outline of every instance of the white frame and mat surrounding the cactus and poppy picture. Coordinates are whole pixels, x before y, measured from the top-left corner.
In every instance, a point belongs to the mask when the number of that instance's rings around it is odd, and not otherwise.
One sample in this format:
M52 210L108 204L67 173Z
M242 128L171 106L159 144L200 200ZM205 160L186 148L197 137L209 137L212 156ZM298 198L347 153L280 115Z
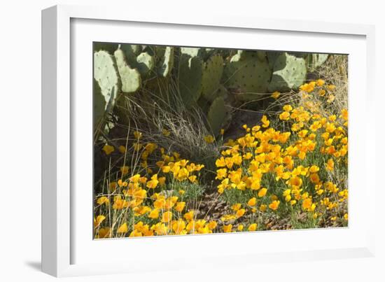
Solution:
M89 63L90 60L92 62L92 53L90 53L88 58L80 59L76 57L74 59L71 52L85 52L82 54L86 54L90 46L85 46L85 44L91 41L124 42L124 38L120 38L122 41L114 41L115 38L118 38L116 36L118 32L111 32L111 34L107 35L105 31L102 31L103 27L107 24L106 20L109 21L110 29L123 30L130 28L132 34L135 34L137 41L144 40L141 37L143 34L140 34L140 31L144 29L148 29L148 32L150 32L151 29L162 30L164 27L167 27L167 29L174 27L171 32L174 32L174 34L179 32L178 36L175 36L175 38L169 37L168 41L165 42L160 42L160 38L153 34L151 38L147 39L146 43L192 45L194 44L193 42L196 42L195 45L202 45L202 42L207 42L204 44L205 46L219 44L216 47L227 47L223 45L225 44L224 42L215 43L214 41L216 38L215 34L223 30L223 32L232 34L235 37L248 36L246 41L249 43L248 46L250 48L257 46L250 39L255 34L259 34L258 36L270 36L270 34L273 34L278 36L277 38L279 36L283 36L283 38L287 38L287 36L290 38L310 36L314 38L314 41L321 40L325 36L329 38L330 43L332 41L337 43L334 46L318 44L318 47L314 47L311 43L309 45L303 44L302 48L307 48L307 52L332 52L332 50L343 52L350 48L351 53L349 55L352 55L356 60L349 60L349 87L351 90L349 93L349 141L351 136L353 136L351 143L349 142L349 197L351 197L349 198L349 227L333 230L214 234L208 236L188 236L186 238L128 239L132 242L130 244L127 244L126 239L101 240L95 243L96 241L92 241L91 232L84 235L88 227L83 225L83 223L92 211L87 210L87 205L85 206L86 211L80 211L78 203L81 199L91 197L92 186L90 186L90 191L83 194L80 194L78 190L74 190L74 187L77 185L77 181L87 181L86 178L91 176L87 176L87 174L79 176L76 174L76 171L73 170L73 167L75 167L73 162L78 167L81 165L81 160L85 160L85 162L92 160L92 155L87 150L85 153L83 150L76 150L74 155L73 148L78 148L80 140L85 140L85 143L80 146L87 146L87 143L90 143L87 141L87 134L83 135L80 132L83 132L84 125L90 122L92 110L90 114L88 113L89 111L85 111L81 120L77 111L79 105L87 107L90 104L92 92L89 93L87 87L91 85L92 76L90 76L89 82L78 84L78 79L73 77L73 73L77 73L82 77L85 76L85 78L89 76L87 71L92 69L92 64L87 66L87 62ZM94 36L92 25L96 24L99 24L98 27L100 29L98 38L92 37ZM111 24L113 27L111 27ZM136 29L138 30L137 32L135 32ZM167 34L166 29L163 31ZM195 41L191 41L191 38L183 36L183 34L189 33L191 35L195 33L196 35L197 32L202 35L200 40L195 39ZM230 258L240 258L241 260L239 261L247 260L249 264L258 264L262 260L264 262L286 262L293 260L363 258L374 255L374 225L370 225L370 220L374 218L372 216L374 215L374 206L370 205L369 201L365 201L365 199L367 199L368 195L374 194L374 177L371 177L367 164L375 163L375 153L374 147L370 146L370 140L367 139L367 134L359 134L358 131L354 130L355 127L364 127L367 132L370 132L375 126L374 123L364 125L363 121L360 121L358 118L356 110L360 106L360 111L364 114L370 113L374 107L372 99L372 93L374 93L374 89L372 89L374 85L373 26L279 19L267 20L241 16L230 18L227 15L215 13L202 13L200 17L179 14L170 16L151 10L143 14L131 13L127 15L124 9L54 6L42 12L42 34L43 272L53 276L78 276L144 272L165 268L170 270L183 269L204 267L208 264L211 267L215 265L223 266L230 265ZM211 34L211 36L207 34ZM274 36L269 37L270 43L258 43L259 48L269 48L268 50L300 50L298 47L295 47L298 43L291 41L288 41L286 46L282 47L274 39ZM78 45L76 45L77 43ZM233 42L228 47L241 48L245 47L245 45L247 44L240 40ZM358 66L363 69L357 71ZM80 74L83 67L86 68L86 71ZM356 67L356 69L353 69L353 67ZM360 83L354 84L353 78L358 76L363 76L363 79L360 80ZM78 87L85 87L84 90L88 94L84 97L82 96L84 99L76 95L80 89ZM365 93L365 97L361 97L363 101L357 100L356 93L358 90L360 90L361 95L363 95L362 92ZM372 132L375 131L372 130ZM362 152L356 152L355 148L361 148ZM355 174L358 171L362 171L360 176ZM352 185L352 189L350 185ZM355 191L358 191L354 188L356 185L363 185L363 195L356 194ZM92 198L90 198L91 202ZM365 206L365 211L362 214L358 213L356 208L358 205ZM357 218L356 221L354 221L355 218ZM328 243L327 246L326 243L290 247L277 244L275 248L260 246L258 250L246 247L246 243L251 240L269 241L269 238L274 238L274 240L280 241L287 239L299 244L307 237L331 238L335 236L339 239L346 238L346 240L342 242L343 244ZM155 244L153 242L160 243ZM220 244L224 242L228 242L229 246L238 244L239 249L234 248L230 251L221 252ZM268 244L264 245L267 246ZM199 246L207 246L205 250L208 251L197 252L196 250L199 249ZM212 253L210 253L209 247ZM97 250L98 253L108 254L108 257L111 258L111 256L116 255L116 250L123 250L123 248L130 248L132 254L136 256L136 260L130 260L130 255L125 255L126 251L120 251L120 253L123 253L118 258L120 263L103 262L100 260L96 262L92 260L92 257L94 258L94 250ZM190 255L186 256L186 258L183 258L183 255L173 258L172 264L166 258L164 262L159 260L156 262L155 260L148 261L140 252L145 252L146 249L149 251L150 248L155 248L163 253L176 251L180 248L188 248ZM146 264L144 264L145 260ZM234 265L234 262L231 262L231 265Z

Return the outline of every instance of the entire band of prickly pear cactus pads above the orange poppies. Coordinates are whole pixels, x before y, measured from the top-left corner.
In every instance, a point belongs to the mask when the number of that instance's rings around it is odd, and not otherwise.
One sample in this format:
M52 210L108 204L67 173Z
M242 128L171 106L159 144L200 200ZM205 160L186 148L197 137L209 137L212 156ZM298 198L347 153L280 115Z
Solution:
M94 43L94 122L111 113L119 95L172 79L183 103L188 108L200 106L216 134L226 119L225 104L295 89L304 83L308 69L327 58L278 51Z

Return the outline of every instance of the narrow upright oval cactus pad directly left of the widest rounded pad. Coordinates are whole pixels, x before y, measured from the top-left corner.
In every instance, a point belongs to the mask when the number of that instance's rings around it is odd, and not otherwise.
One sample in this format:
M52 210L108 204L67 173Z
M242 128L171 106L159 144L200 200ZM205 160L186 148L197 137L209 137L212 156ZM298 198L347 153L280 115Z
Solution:
M211 56L204 63L202 76L202 95L208 101L213 101L216 97L223 73L223 58L221 55Z

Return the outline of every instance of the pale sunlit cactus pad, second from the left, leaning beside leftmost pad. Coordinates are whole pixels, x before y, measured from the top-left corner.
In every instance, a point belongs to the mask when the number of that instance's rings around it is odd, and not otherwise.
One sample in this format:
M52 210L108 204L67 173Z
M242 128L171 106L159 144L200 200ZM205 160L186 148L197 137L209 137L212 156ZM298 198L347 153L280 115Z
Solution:
M132 69L127 64L123 50L116 50L114 55L122 83L122 91L126 93L136 92L141 86L141 75L139 71L137 71L137 69Z

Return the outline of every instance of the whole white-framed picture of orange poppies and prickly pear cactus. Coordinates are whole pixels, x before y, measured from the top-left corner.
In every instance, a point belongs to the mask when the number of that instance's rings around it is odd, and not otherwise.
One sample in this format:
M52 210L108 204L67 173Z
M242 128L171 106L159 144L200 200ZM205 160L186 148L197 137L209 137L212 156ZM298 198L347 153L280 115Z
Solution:
M374 254L372 26L42 17L43 272Z

